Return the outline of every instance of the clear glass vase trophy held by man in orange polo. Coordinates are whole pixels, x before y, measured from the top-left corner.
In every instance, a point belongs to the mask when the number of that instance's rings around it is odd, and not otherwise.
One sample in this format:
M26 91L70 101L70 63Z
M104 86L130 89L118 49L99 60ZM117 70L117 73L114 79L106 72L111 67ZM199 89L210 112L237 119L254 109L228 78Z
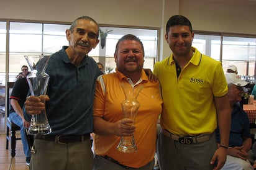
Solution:
M121 84L121 87L126 96L126 99L121 102L124 118L132 119L135 122L135 117L140 107L140 103L137 101L137 97L139 96L143 86L137 84L136 86L132 87L130 84ZM134 135L121 136L117 150L124 153L133 153L137 151Z

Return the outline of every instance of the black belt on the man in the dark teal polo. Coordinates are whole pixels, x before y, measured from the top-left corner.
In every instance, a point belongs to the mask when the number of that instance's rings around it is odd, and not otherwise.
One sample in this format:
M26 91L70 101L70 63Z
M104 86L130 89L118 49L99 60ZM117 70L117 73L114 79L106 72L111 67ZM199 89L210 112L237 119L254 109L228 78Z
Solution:
M35 135L35 139L39 140L50 140L55 141L56 143L66 144L74 142L82 142L89 139L90 134L86 135Z

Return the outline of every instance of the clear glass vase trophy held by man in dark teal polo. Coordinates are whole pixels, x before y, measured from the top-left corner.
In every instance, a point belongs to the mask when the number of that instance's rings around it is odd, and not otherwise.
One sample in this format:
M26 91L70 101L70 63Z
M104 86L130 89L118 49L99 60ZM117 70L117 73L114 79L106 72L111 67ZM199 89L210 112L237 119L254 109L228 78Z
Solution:
M45 73L50 55L24 56L31 73L27 76L32 96L45 96L50 76ZM35 63L37 63L35 65ZM45 104L45 101L42 101ZM45 109L40 114L32 115L28 133L30 135L47 135L52 132Z

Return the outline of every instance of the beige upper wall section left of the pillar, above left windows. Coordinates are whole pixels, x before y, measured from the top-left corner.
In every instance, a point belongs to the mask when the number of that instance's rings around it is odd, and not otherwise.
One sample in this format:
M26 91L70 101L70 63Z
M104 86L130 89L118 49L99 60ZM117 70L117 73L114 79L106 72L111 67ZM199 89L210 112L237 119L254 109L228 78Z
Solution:
M99 24L159 27L162 0L1 0L0 18L72 22L91 16Z

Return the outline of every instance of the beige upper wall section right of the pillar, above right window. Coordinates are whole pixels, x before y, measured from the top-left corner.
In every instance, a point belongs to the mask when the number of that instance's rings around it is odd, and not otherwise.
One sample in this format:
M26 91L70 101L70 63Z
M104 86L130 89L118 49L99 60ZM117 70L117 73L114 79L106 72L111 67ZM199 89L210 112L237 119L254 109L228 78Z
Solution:
M194 30L256 35L255 0L180 0Z

